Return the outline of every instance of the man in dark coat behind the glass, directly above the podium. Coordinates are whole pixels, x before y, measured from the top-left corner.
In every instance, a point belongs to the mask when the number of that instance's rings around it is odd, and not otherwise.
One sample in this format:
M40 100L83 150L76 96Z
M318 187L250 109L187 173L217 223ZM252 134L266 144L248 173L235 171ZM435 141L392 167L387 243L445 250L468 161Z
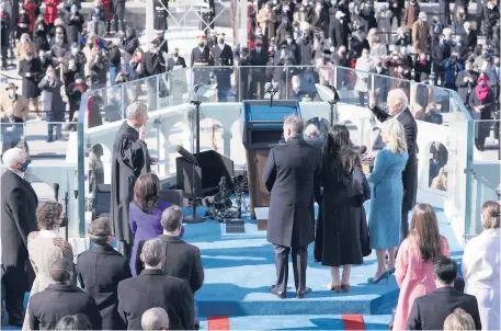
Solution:
M266 83L266 64L267 64L267 49L263 48L263 41L255 41L255 48L251 49L249 55L249 62L252 68L252 80L249 88L249 96L251 99L264 99L264 84ZM259 87L259 93L258 93Z

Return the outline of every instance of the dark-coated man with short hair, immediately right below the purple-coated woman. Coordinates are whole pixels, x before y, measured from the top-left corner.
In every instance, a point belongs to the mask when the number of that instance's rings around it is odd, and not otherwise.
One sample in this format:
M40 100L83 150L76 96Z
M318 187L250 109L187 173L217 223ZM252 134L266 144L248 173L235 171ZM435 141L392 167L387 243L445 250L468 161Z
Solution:
M161 224L163 235L157 238L164 247L167 263L163 264L163 273L168 276L178 277L190 284L193 293L204 284L204 267L200 250L196 246L190 244L180 238L183 224L183 209L179 206L171 206L163 210ZM144 265L139 258L145 241L139 242L136 256L136 271L139 274Z

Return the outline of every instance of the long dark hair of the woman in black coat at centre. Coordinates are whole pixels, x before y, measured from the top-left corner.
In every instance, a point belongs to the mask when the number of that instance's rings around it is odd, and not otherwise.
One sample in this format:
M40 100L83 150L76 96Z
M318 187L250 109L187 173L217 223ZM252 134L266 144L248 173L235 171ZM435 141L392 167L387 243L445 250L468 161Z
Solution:
M334 125L327 134L323 145L323 169L342 169L343 176L355 169L356 153L351 149L350 130L345 125ZM339 180L342 180L339 178Z

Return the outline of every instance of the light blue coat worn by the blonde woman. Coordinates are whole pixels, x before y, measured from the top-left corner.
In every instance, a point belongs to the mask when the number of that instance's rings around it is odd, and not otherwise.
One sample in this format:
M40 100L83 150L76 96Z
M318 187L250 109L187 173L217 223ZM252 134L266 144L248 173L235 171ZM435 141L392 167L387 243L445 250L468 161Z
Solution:
M368 216L372 249L389 249L400 243L403 195L401 175L407 159L407 151L392 152L385 147L377 153L374 171L367 178L373 184Z

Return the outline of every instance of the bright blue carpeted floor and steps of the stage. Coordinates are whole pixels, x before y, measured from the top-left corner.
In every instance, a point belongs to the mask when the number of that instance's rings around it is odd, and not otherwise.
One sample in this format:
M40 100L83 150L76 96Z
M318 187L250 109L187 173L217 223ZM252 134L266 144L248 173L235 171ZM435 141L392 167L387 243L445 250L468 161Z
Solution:
M366 208L369 208L368 202ZM197 214L203 215L205 210L198 208ZM186 215L190 213L191 209L185 209ZM462 248L443 210L437 210L437 216L453 258L460 261ZM387 330L391 308L397 305L398 286L395 276L389 278L388 284L366 283L376 271L374 252L363 265L352 267L350 293L335 294L327 290L330 272L328 267L314 263L311 244L307 286L312 292L305 299L296 299L291 272L287 293L291 298L281 300L269 292L275 281L275 266L272 247L265 239L266 232L258 230L255 220L247 215L242 230L240 233L228 233L225 224L212 219L185 225L184 240L201 249L205 269L205 283L195 296L203 329L209 327L207 319L212 317L228 317L229 328L236 330L346 329L342 316L360 315L365 329Z

